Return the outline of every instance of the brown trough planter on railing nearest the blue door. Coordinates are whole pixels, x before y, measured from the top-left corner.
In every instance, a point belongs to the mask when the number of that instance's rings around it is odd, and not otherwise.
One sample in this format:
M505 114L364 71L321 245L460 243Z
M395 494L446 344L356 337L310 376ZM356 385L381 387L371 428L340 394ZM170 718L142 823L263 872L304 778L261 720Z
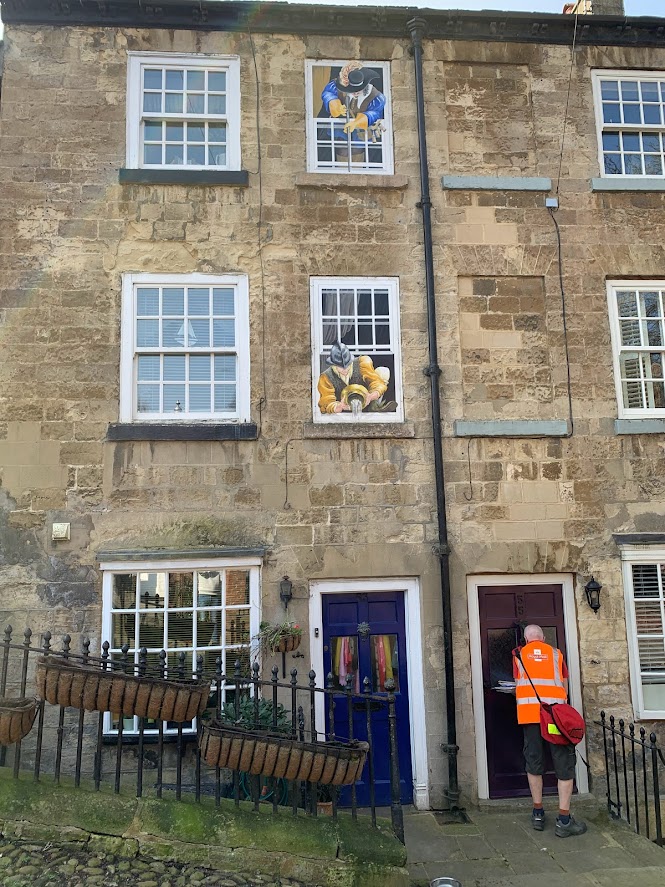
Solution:
M366 742L300 742L219 722L204 725L201 733L201 754L211 767L322 785L356 782L368 749Z

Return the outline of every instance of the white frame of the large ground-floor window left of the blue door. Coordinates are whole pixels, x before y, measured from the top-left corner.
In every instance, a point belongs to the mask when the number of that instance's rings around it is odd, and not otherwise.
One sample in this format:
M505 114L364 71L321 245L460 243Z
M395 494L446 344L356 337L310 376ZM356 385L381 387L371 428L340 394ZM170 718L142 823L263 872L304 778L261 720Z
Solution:
M249 627L250 638L259 630L261 622L261 558L196 558L181 560L145 560L145 561L106 561L100 563L102 572L102 641L108 640L112 646L112 619L111 605L113 599L113 576L115 573L169 573L169 572L193 572L198 570L249 570ZM194 609L194 608L192 608ZM226 613L226 608L222 609ZM199 648L199 651L202 648ZM167 651L168 652L168 651ZM138 651L135 654L137 659ZM228 669L227 672L231 673ZM112 714L104 715L105 735L117 736L118 731L112 728ZM184 734L196 733L196 719L190 728L183 730ZM145 735L157 735L157 730L146 729ZM124 736L138 736L138 730L124 728ZM164 735L177 735L177 730L164 728Z

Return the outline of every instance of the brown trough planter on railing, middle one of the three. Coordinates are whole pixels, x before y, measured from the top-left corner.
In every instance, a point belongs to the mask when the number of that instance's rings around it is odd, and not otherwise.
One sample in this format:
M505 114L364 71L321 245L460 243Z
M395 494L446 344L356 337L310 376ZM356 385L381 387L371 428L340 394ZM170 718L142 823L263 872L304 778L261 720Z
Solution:
M36 680L37 693L52 705L176 723L201 715L210 695L208 681L135 677L56 656L38 660Z

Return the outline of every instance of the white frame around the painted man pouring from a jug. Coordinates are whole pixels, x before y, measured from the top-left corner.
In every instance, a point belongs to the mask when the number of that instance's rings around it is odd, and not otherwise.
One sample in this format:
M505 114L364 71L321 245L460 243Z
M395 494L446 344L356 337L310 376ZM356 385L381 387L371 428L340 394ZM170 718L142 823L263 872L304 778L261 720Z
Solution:
M323 324L321 316L321 289L326 286L349 287L385 287L388 290L388 306L390 311L390 339L392 354L395 358L395 399L397 410L394 413L362 413L359 417L350 412L323 414L319 409L319 393L317 385L321 375L319 356L323 351ZM312 326L312 415L315 423L348 424L348 423L388 423L404 421L404 391L402 385L402 346L400 334L400 300L399 278L397 277L311 277L310 278L310 316ZM371 350L371 349L368 349ZM361 350L352 350L354 357L362 354Z

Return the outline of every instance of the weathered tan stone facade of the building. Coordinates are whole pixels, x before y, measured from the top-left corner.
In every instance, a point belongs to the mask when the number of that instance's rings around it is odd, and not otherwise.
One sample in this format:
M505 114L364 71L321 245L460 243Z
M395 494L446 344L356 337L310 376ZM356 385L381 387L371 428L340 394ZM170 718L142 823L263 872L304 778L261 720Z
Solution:
M293 664L320 673L326 593L403 591L416 801L440 807L446 700L406 17L303 7L247 19L224 4L222 20L216 4L118 5L113 18L103 4L3 4L2 621L98 647L110 625L100 566L185 570L191 559L201 570L222 558L260 571L256 618L260 608L302 624L305 658ZM587 719L639 713L621 552L664 559L665 411L656 398L638 418L619 412L607 290L665 289L665 176L603 174L593 89L594 72L662 72L665 100L665 41L662 21L635 23L629 38L589 18L571 51L570 16L426 18L455 704L460 785L473 799L493 791L482 588L508 589L516 624L529 612L520 587L558 588ZM185 169L151 180L129 167L132 53L238 60L235 179ZM394 165L312 170L306 64L355 59L389 72ZM246 281L246 421L123 422L123 281L193 274ZM310 297L324 278L397 281L399 421L320 421ZM54 524L69 538L55 541ZM592 575L598 613L584 591ZM496 630L505 646L508 628Z

